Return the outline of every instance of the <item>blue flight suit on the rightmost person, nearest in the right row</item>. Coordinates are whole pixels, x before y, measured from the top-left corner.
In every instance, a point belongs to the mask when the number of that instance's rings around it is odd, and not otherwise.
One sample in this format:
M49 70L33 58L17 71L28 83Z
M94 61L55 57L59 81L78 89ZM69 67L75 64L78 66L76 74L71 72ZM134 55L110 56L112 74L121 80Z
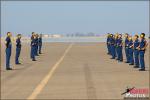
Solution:
M141 50L143 47L145 47L146 45L146 40L145 39L141 39L140 41L140 66L141 69L145 70L145 61L144 61L144 54L145 54L145 50Z

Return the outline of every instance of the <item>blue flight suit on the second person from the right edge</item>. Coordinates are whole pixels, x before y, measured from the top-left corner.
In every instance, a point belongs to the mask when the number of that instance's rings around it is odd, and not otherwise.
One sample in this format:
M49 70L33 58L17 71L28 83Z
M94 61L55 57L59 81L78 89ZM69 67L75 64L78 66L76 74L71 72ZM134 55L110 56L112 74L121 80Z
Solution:
M139 40L136 39L134 41L134 61L136 67L139 67L139 50L137 49L138 46L139 46Z

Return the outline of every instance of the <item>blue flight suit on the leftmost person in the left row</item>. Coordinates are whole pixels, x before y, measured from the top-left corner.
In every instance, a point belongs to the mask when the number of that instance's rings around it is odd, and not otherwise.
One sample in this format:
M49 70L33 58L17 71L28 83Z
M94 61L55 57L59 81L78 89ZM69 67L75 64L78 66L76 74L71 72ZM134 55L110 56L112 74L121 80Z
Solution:
M10 37L6 38L6 69L10 68L10 57L11 57L11 49L12 49L12 43Z

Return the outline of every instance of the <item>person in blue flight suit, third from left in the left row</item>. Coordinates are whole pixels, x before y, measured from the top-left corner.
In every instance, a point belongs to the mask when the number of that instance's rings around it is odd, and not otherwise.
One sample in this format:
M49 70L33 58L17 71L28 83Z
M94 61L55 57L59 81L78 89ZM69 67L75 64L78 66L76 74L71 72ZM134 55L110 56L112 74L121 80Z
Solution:
M32 61L36 61L35 51L36 51L36 35L33 34L33 38L31 40L31 59L32 59Z

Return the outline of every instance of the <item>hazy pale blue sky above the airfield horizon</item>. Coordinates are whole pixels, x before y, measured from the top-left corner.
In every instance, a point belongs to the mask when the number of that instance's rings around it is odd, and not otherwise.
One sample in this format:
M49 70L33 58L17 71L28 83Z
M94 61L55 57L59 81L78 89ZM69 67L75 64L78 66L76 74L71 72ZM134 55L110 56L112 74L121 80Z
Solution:
M7 1L1 33L149 32L148 1Z

